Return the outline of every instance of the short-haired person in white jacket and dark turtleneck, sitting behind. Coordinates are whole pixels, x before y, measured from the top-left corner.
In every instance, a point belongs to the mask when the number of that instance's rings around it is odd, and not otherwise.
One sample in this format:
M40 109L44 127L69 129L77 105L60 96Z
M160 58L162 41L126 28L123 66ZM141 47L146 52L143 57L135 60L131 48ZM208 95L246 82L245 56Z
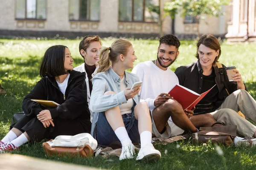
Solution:
M102 48L102 42L99 36L87 35L79 44L79 52L84 59L84 63L75 67L74 70L85 72L85 82L87 85L87 102L90 105L90 95L93 90L92 78L96 74L96 64L99 60L99 51ZM93 121L93 112L90 112L90 121Z

